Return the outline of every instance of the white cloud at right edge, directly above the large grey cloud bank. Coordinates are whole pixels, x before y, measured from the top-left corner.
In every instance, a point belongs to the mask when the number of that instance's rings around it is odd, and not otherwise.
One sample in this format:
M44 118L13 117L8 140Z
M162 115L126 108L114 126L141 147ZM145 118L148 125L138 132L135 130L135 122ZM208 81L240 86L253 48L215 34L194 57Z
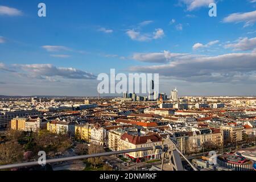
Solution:
M226 44L225 48L232 48L234 51L249 51L256 48L256 38L241 38L235 43Z

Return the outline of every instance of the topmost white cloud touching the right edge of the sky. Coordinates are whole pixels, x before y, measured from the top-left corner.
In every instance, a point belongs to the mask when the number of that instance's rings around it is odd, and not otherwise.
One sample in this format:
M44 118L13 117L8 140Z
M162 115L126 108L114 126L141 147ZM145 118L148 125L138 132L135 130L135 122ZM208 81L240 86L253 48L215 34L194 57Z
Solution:
M245 23L243 27L251 26L256 22L256 10L247 13L233 13L223 19L224 23Z

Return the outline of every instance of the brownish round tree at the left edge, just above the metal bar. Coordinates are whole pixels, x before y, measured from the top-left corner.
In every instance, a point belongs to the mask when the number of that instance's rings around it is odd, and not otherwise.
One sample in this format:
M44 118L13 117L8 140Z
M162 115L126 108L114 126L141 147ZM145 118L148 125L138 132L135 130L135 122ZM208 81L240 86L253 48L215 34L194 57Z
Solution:
M0 144L0 163L11 164L21 162L23 148L18 142L10 141Z

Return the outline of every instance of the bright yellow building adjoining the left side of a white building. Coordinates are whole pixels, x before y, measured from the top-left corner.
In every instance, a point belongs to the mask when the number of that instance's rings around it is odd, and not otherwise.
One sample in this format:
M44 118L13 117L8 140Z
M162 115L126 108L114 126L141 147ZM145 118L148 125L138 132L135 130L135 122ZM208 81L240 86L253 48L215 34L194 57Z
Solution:
M75 127L76 138L80 140L85 140L85 142L90 143L92 127L93 125L90 125L90 124L76 125Z

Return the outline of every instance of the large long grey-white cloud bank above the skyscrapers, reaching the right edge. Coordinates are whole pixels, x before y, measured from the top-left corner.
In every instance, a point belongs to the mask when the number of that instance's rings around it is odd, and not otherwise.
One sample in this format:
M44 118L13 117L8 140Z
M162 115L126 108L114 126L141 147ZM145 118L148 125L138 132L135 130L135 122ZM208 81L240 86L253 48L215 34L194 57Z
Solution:
M159 55L162 57L162 55ZM167 64L131 67L130 71L159 73L191 82L254 82L256 53L229 53L219 56L177 57ZM158 59L155 56L155 59Z

